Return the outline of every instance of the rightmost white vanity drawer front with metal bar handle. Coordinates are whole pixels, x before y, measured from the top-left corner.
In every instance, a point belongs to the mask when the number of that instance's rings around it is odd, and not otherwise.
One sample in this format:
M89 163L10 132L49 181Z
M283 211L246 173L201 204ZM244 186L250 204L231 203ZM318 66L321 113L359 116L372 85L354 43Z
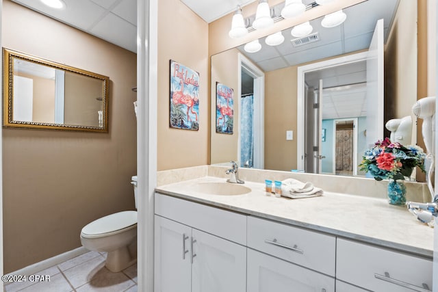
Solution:
M347 239L337 239L336 254L339 280L376 292L432 291L433 263L426 258ZM420 289L404 288L409 284Z

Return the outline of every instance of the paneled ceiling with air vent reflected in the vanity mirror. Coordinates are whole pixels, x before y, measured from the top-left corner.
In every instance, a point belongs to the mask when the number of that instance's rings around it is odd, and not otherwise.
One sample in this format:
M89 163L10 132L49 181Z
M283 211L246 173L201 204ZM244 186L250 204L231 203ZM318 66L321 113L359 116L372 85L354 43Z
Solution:
M313 0L304 0L309 4ZM238 47L246 57L255 62L262 70L272 71L306 62L312 62L334 55L343 55L353 51L368 49L376 21L384 19L385 40L388 28L391 25L398 0L368 0L350 8L344 9L346 21L337 27L325 28L321 25L322 18L310 21L313 26L311 34L318 33L319 40L307 42L294 47L292 40L296 38L290 34L291 29L282 31L285 41L275 47L265 43L266 38L259 40L261 50L257 53L246 53L244 45Z

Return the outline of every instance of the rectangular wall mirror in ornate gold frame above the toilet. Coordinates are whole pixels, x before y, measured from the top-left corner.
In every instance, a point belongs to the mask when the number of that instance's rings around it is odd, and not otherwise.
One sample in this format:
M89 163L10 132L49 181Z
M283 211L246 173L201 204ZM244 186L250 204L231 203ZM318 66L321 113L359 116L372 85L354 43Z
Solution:
M108 131L108 77L5 48L3 65L3 127Z

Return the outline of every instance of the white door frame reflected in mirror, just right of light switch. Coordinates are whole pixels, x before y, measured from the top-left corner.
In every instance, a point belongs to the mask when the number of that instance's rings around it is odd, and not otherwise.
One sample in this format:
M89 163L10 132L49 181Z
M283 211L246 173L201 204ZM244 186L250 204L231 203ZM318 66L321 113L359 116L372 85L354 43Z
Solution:
M304 124L305 124L305 102L304 102L304 92L305 92L305 73L313 72L316 70L322 70L326 68L331 68L339 65L345 65L355 62L361 62L367 59L368 52L361 52L352 55L346 55L344 57L337 57L334 59L329 59L322 62L315 62L313 64L308 64L304 66L298 66L298 77L297 77L297 107L296 107L296 138L297 138L297 155L296 155L296 165L298 170L304 170Z

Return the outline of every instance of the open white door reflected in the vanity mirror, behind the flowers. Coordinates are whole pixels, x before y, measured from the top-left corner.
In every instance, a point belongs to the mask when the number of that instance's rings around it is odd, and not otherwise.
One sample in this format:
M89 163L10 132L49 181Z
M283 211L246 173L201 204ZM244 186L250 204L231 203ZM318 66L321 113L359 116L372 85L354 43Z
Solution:
M383 19L377 21L367 58L367 145L383 139Z

